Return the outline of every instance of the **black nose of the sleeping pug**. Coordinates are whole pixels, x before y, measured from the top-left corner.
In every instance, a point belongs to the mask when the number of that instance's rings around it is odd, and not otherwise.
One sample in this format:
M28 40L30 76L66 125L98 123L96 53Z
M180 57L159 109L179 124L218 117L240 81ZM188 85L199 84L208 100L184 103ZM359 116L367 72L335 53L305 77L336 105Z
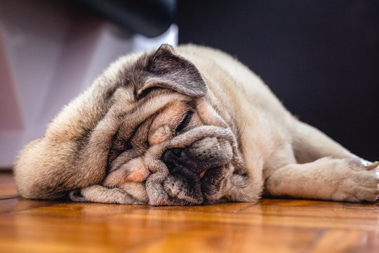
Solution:
M196 162L185 148L168 149L164 151L161 160L173 175L180 175L187 179L199 178Z

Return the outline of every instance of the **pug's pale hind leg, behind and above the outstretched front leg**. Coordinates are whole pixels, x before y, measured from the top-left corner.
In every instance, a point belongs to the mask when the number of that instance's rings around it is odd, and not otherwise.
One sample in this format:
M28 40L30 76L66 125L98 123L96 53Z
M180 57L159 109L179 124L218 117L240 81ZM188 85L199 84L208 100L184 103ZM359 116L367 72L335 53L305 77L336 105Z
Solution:
M293 153L298 163L313 162L322 157L357 157L313 126L296 121L291 129Z

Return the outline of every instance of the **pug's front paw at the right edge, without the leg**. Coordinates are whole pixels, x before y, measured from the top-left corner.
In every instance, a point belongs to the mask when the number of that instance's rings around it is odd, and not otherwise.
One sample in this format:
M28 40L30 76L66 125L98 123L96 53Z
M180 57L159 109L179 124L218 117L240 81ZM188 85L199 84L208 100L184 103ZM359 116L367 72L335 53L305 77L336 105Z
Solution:
M343 162L350 173L338 182L338 190L331 198L348 202L375 202L379 195L379 162L357 158L344 159Z

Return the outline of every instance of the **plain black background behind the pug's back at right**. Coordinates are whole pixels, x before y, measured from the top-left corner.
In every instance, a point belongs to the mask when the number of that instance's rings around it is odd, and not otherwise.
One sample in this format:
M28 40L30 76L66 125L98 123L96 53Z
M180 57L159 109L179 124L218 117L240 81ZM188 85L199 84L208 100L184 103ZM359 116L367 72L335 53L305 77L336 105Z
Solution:
M379 1L178 1L179 43L248 65L300 120L379 159Z

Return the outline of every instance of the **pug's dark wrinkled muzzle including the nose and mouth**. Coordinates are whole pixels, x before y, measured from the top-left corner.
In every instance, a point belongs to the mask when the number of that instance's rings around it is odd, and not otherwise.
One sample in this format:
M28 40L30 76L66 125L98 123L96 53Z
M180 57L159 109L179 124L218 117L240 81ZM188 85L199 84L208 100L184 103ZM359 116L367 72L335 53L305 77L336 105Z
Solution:
M169 174L163 187L171 204L195 205L211 200L227 179L232 157L230 143L215 137L164 151L161 161Z

